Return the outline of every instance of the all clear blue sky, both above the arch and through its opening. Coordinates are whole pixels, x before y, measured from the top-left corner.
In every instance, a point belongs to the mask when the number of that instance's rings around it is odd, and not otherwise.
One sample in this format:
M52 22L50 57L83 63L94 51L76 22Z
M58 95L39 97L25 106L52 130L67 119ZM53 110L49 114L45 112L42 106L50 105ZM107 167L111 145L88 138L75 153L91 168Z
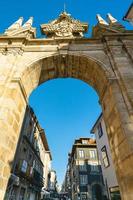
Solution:
M63 10L72 16L95 25L96 14L106 18L112 13L128 29L132 27L123 22L122 18L132 0L1 0L0 1L0 32L11 23L23 16L27 20L34 17L34 26L39 26L57 18ZM53 168L57 171L61 183L67 163L67 154L75 138L89 137L89 131L101 112L96 92L86 83L76 79L56 79L39 86L30 96L40 124L46 131L48 143L53 156Z

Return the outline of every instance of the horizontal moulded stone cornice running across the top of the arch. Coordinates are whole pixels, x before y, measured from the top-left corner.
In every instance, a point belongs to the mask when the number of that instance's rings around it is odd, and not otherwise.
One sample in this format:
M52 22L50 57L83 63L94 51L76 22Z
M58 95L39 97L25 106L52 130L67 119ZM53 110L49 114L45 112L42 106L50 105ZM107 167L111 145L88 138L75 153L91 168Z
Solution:
M133 31L128 31L125 34L117 33L117 34L105 34L101 39L99 38L35 38L28 39L26 37L5 37L3 35L0 36L0 52L4 55L13 53L14 55L20 54L23 52L54 52L57 50L69 50L69 51L88 51L88 50L97 50L103 49L104 38L106 40L133 40ZM117 40L116 40L117 39ZM83 44L83 46L82 46ZM76 46L78 45L78 49ZM80 45L80 48L79 48ZM121 44L115 43L111 45L121 46ZM132 46L132 44L128 44L128 46ZM47 48L49 47L49 48Z

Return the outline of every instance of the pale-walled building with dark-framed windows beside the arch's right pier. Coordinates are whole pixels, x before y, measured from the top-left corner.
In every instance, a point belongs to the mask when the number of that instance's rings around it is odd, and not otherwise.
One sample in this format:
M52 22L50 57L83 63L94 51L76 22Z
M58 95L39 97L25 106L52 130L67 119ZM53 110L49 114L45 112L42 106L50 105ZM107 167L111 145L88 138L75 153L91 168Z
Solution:
M121 198L119 186L116 178L107 131L102 114L97 119L91 132L94 133L96 136L97 149L99 158L101 160L103 178L106 186L108 199L120 200Z

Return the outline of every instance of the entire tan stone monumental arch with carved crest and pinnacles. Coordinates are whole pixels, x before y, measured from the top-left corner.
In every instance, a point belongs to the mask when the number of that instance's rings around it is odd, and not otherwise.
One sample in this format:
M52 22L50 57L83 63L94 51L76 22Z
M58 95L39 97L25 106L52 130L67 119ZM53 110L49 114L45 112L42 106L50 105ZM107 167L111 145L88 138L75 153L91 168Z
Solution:
M41 25L41 38L19 18L0 35L0 200L10 177L31 92L54 79L73 77L99 95L123 200L133 199L133 31L110 14L88 24L65 11ZM53 133L54 134L54 133Z

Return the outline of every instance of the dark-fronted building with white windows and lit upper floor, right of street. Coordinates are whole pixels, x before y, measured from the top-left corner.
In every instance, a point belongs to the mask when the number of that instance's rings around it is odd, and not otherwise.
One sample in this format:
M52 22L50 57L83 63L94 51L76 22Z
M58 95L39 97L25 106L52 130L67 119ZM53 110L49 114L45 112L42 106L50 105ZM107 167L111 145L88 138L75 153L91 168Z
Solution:
M94 139L75 140L69 154L69 168L72 200L104 199L103 177Z

